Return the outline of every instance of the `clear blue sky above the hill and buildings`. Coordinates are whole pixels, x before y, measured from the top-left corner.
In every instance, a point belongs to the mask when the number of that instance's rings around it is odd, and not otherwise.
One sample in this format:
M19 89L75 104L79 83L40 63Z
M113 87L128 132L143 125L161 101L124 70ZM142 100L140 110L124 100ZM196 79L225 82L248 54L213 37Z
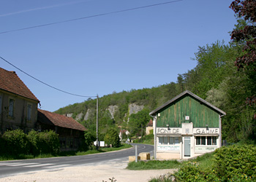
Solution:
M37 79L77 95L103 95L176 82L195 68L198 46L230 41L231 0L175 1L133 11L12 31L168 0L2 0L0 56ZM16 71L48 111L87 98L67 95ZM99 100L100 104L100 100Z

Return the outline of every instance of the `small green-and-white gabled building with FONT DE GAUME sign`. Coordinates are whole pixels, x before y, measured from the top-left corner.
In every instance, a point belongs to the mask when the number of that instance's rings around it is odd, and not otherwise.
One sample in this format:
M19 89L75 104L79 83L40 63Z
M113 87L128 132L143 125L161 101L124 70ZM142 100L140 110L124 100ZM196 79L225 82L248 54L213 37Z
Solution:
M221 117L226 113L188 90L150 115L156 159L187 159L221 146Z

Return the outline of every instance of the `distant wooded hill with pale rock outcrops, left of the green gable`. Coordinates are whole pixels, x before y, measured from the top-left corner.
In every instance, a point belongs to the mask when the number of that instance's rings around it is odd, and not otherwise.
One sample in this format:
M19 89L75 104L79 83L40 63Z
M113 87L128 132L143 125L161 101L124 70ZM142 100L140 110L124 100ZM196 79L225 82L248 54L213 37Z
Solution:
M149 113L180 92L182 90L178 89L178 84L171 82L158 87L104 95L99 98L99 130L105 132L108 127L127 127L127 121L131 114L137 114L143 110ZM89 130L95 130L96 104L96 99L89 98L83 103L59 108L55 112L72 116ZM145 122L149 122L149 119Z

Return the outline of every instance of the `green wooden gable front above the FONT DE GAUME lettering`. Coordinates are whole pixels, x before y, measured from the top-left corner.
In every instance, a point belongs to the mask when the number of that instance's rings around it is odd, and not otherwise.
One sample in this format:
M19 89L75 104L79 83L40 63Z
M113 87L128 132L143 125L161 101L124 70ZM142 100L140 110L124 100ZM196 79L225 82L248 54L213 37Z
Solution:
M192 122L193 127L219 127L219 113L191 95L178 98L157 113L157 127L181 127L184 122ZM189 121L185 121L185 116L189 116Z

